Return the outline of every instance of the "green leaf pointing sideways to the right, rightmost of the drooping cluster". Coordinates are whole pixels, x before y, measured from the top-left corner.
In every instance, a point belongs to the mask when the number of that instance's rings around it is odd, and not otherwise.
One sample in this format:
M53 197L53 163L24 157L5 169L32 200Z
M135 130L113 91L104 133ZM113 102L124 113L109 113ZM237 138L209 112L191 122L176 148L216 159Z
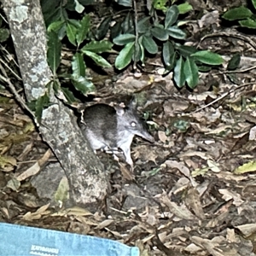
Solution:
M199 50L195 54L192 54L191 56L194 57L196 61L201 61L204 64L208 65L220 65L223 63L224 59L221 55L218 55L216 53L213 53L209 50Z

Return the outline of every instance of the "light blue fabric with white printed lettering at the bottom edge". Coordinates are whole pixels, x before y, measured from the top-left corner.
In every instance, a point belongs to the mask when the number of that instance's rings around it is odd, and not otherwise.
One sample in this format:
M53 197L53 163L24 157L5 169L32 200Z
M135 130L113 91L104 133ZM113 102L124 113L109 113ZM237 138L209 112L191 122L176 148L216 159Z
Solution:
M94 236L0 223L0 255L139 256L139 249Z

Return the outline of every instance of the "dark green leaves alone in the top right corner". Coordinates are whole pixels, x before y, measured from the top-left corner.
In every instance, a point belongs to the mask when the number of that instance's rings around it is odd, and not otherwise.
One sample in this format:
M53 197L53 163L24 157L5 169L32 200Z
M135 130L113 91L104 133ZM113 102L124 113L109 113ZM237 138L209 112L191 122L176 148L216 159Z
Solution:
M251 3L253 4L253 12L252 10L248 9L245 6L236 7L233 9L228 10L224 13L223 18L225 20L238 20L238 23L240 26L244 26L247 28L256 28L256 15L255 15L255 9L256 9L256 1L251 0Z

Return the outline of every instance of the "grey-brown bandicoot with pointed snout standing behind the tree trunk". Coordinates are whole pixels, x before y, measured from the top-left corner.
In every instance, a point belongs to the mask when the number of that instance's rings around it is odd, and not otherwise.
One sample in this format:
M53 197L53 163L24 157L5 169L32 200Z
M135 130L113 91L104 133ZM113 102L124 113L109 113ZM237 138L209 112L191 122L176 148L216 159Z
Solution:
M136 103L128 107L110 107L106 104L96 104L84 109L81 128L84 136L93 150L100 148L121 148L125 160L133 165L131 160L131 142L135 135L154 142L143 122L137 115Z

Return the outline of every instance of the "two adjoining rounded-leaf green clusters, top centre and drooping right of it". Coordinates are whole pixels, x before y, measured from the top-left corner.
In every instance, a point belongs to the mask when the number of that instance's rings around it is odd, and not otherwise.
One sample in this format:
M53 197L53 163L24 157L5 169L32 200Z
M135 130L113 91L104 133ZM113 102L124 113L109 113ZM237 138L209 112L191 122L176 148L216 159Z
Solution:
M138 38L135 27L128 25L132 24L133 19L130 13L123 21L119 21L119 32L115 32L113 44L124 48L115 60L115 67L121 70L132 61L141 61L144 64L145 52L155 55L161 50L166 67L165 74L174 71L177 87L182 88L187 84L189 88L194 89L198 84L199 70L207 70L207 68L210 70L212 66L221 65L224 60L220 55L210 51L198 51L194 47L177 43L177 40L180 42L186 38L186 33L177 26L179 9L185 13L191 9L191 6L183 3L182 6L172 5L167 8L166 4L165 0L155 0L153 8L150 9L151 16L138 20ZM158 16L156 10L163 11L162 18ZM155 16L158 16L157 19Z

